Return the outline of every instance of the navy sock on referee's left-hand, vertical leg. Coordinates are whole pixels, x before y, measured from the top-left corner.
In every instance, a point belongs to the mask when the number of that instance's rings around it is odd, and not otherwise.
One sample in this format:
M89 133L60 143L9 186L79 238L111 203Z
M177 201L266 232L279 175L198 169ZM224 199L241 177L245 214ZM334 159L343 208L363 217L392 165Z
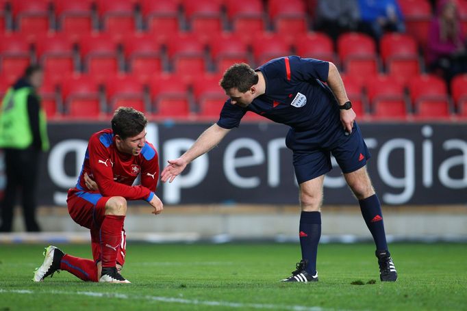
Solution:
M301 258L308 260L307 273L316 274L316 254L321 237L321 213L301 212L300 246Z

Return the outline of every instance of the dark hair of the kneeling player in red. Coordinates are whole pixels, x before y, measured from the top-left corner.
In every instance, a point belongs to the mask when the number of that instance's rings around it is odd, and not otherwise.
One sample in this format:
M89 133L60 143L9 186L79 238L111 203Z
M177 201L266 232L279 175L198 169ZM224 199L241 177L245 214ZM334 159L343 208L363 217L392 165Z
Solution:
M121 139L134 137L144 130L147 119L141 111L131 107L118 107L112 118L112 131Z

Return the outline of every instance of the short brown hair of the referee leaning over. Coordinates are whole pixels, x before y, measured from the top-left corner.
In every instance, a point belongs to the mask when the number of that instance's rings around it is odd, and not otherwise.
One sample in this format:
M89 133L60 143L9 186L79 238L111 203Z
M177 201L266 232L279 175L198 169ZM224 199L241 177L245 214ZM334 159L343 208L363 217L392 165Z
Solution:
M236 87L238 92L244 93L258 83L258 79L257 73L248 64L234 64L225 70L219 84L225 91Z

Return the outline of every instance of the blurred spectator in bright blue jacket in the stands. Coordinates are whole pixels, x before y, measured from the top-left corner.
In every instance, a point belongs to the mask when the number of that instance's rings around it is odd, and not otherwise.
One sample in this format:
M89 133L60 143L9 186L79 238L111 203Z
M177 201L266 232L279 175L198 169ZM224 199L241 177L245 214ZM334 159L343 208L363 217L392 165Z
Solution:
M360 28L379 40L385 31L404 32L401 8L396 0L358 0Z

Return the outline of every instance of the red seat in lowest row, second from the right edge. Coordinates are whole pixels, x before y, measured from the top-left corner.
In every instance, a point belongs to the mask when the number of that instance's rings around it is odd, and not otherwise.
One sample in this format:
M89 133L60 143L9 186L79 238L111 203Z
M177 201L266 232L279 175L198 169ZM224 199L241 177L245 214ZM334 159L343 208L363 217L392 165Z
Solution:
M420 100L446 100L446 83L436 75L420 75L409 81L409 93L414 107Z

